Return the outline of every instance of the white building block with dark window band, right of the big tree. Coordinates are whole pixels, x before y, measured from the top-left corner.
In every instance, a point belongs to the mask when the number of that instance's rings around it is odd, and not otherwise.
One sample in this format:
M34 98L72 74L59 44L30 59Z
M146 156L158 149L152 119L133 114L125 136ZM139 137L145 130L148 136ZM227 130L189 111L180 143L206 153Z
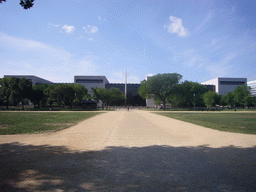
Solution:
M247 78L217 77L201 84L214 85L216 93L225 95L228 92L233 92L240 85L247 85Z

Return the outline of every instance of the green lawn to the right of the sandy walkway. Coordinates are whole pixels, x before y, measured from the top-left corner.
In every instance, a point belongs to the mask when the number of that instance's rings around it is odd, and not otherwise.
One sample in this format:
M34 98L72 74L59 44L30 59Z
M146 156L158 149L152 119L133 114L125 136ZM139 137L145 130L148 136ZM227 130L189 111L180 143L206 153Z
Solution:
M256 113L155 113L226 132L256 134Z

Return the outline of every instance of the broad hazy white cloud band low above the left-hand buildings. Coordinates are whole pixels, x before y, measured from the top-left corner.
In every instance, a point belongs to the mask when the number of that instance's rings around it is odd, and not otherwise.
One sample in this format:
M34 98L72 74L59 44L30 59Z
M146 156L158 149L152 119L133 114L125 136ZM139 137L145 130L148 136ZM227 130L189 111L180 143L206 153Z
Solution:
M0 32L0 76L31 74L53 82L73 82L74 74L97 75L97 58Z

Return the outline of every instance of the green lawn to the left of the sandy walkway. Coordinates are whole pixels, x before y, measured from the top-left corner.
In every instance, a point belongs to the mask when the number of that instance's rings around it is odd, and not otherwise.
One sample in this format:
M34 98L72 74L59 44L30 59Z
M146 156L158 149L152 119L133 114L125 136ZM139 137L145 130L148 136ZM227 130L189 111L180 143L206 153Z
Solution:
M102 112L0 112L0 134L59 131Z

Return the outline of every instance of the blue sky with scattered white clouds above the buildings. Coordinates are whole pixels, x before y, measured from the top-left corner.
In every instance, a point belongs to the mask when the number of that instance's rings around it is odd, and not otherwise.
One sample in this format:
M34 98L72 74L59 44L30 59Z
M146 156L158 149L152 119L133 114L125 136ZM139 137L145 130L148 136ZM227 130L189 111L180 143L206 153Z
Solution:
M183 80L256 79L255 0L19 0L0 4L0 77L36 75L74 82L104 75L139 83L147 75Z

